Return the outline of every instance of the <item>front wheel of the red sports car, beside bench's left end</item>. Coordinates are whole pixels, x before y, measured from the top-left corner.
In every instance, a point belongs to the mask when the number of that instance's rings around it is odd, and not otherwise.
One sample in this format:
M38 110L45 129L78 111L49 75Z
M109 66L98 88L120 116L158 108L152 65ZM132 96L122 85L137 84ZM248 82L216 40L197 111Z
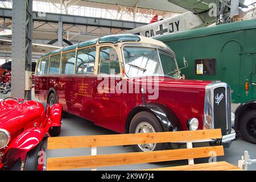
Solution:
M44 140L27 153L24 171L43 171L46 166L46 152L44 151Z

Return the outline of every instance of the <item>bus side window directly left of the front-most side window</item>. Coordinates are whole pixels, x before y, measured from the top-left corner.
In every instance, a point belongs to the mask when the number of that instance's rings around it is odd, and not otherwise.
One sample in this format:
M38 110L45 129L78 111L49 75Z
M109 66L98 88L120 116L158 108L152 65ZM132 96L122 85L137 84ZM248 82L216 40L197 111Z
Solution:
M96 47L77 51L76 74L93 74Z

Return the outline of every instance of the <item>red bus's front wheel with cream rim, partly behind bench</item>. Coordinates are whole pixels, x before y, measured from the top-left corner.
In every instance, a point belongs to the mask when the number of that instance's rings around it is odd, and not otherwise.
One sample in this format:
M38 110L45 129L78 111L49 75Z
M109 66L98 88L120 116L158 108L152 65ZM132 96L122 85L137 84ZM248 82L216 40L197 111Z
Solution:
M155 115L147 111L141 111L134 116L130 124L130 133L155 133L163 132L163 129ZM134 145L138 152L163 150L164 143L149 143Z

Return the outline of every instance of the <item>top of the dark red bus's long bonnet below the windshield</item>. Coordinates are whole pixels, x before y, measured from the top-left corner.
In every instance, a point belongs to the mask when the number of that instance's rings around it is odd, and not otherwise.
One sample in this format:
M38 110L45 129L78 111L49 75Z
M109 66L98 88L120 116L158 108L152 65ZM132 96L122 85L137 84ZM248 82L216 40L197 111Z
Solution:
M205 89L205 86L210 84L212 81L201 81L201 80L179 80L171 77L139 77L131 78L132 82L141 81L142 84L159 84L159 88L172 87L172 88L188 88L188 89Z

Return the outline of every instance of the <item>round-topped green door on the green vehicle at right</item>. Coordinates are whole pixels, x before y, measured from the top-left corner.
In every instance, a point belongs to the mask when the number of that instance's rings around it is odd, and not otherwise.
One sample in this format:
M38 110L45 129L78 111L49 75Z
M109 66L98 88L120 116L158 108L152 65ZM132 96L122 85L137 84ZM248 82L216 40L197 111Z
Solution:
M222 47L221 64L222 75L221 81L229 84L232 93L232 102L240 102L240 77L241 77L241 55L242 46L236 40L226 42ZM218 62L218 60L217 60Z

